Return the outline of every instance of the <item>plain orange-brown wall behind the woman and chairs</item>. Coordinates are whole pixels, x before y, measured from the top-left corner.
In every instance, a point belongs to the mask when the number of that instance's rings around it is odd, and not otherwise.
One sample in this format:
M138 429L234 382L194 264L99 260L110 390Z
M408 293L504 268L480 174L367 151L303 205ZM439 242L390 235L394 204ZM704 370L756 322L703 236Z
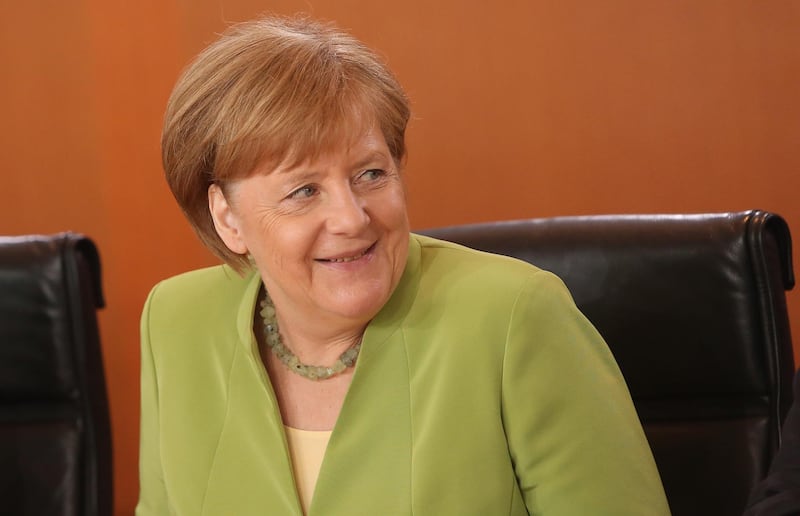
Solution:
M162 180L164 104L215 33L262 12L335 20L387 57L413 99L416 228L761 208L800 235L795 1L3 2L0 234L100 246L120 515L137 496L142 303L214 262Z

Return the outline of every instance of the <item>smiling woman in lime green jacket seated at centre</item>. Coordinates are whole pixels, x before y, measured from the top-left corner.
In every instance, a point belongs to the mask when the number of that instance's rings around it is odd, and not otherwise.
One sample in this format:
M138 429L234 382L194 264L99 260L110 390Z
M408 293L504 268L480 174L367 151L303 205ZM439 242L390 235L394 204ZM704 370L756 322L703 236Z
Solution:
M408 118L308 20L233 27L179 80L167 180L227 265L145 306L137 514L668 514L563 284L409 234Z

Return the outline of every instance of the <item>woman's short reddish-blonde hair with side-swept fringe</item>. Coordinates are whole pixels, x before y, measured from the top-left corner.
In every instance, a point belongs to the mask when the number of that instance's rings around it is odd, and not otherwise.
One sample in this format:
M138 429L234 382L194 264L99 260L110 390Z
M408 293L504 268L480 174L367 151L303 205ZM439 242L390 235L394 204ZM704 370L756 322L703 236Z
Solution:
M214 229L212 184L224 189L264 161L313 159L346 144L365 118L378 124L400 166L409 115L381 59L334 26L276 17L237 24L197 56L170 96L164 172L203 243L241 272L249 260Z

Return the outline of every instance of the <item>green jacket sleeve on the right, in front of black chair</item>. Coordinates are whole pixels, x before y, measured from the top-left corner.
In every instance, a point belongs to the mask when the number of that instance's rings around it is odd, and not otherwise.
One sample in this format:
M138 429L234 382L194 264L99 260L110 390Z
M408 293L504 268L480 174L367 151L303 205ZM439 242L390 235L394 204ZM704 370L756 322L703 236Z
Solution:
M564 284L548 272L534 273L515 302L502 404L530 514L669 514L613 356Z

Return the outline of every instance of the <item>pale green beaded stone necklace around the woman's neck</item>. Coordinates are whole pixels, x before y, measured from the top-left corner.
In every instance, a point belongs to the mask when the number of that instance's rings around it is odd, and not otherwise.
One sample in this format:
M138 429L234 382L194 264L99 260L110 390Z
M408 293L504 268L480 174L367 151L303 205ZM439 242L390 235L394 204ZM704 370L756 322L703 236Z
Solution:
M358 358L358 352L361 351L361 341L353 344L344 353L339 355L336 362L330 367L306 365L300 362L297 355L289 351L289 348L283 345L281 333L278 330L278 318L275 315L275 305L272 304L272 299L269 293L264 291L264 299L261 300L261 318L264 321L264 336L267 339L267 347L272 353L278 357L283 365L289 368L293 373L299 374L309 380L327 380L332 376L340 374L348 367L353 367Z

